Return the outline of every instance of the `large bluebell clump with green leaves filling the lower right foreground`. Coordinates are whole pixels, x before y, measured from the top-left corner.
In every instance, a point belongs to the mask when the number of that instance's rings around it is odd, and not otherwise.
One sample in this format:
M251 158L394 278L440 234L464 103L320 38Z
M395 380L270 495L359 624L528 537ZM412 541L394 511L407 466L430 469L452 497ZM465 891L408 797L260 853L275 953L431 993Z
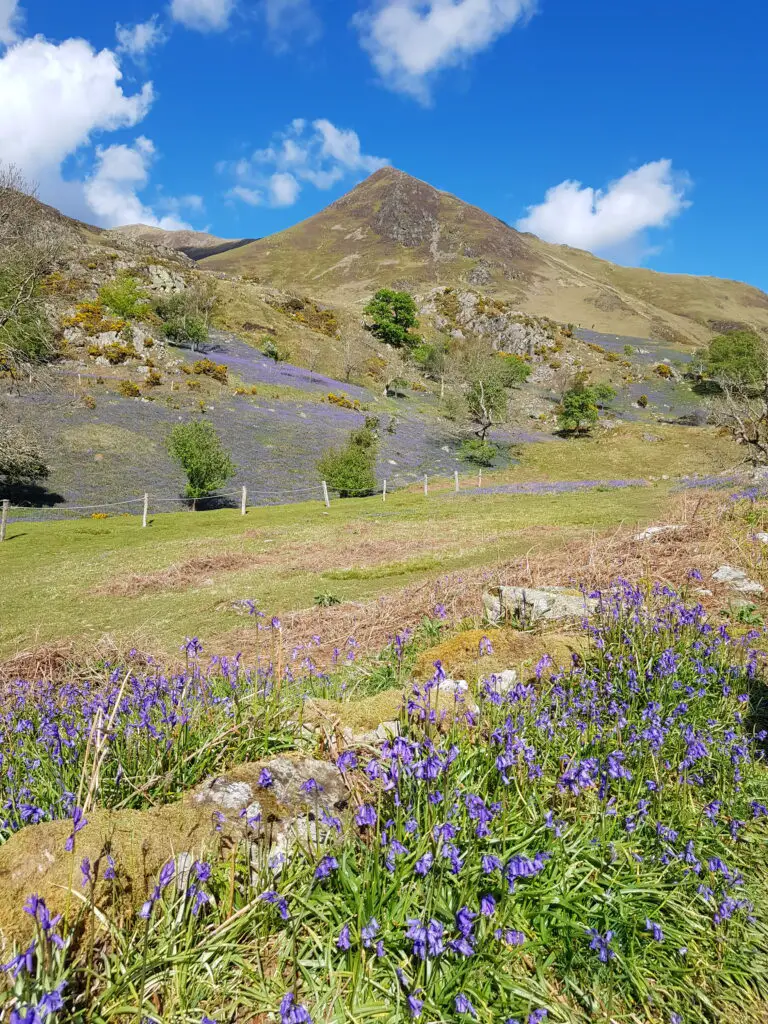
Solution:
M284 1024L374 1007L425 1024L691 1024L768 997L758 636L665 588L593 596L583 659L543 659L511 688L480 679L450 709L439 666L415 686L398 736L340 757L343 822L321 815L279 872L241 851L194 919L160 885L147 927L183 922L197 1006L222 1020L256 998ZM238 956L206 989L194 965L219 938ZM65 1001L82 991L60 980Z

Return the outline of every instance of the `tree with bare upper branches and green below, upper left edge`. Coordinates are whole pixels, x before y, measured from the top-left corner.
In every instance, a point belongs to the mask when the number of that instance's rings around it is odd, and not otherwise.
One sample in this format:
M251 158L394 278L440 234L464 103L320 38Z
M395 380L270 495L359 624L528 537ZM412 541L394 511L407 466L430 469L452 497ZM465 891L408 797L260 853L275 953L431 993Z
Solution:
M20 171L0 165L0 368L11 373L43 361L52 350L40 287L65 239Z

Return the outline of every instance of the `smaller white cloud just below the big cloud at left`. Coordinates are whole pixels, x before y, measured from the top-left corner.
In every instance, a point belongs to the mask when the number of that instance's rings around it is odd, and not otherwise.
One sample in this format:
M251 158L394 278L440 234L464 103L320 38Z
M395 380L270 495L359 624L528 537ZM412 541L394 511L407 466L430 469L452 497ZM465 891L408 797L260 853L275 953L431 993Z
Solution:
M139 199L138 193L150 179L154 158L155 146L143 135L139 135L133 145L110 145L96 151L96 166L86 179L83 190L100 224L104 227L150 224L168 230L190 226L173 214L156 216ZM195 197L196 201L198 199ZM180 200L175 203L181 205Z

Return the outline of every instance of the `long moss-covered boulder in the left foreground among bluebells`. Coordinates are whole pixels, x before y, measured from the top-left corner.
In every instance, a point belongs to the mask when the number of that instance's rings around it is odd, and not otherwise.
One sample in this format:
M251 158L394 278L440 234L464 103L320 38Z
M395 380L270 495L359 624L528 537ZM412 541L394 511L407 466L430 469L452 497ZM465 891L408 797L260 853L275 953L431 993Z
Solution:
M265 769L271 776L266 786L260 784ZM306 792L302 786L310 779L316 787ZM53 912L77 915L83 906L83 858L95 878L95 905L109 904L113 915L131 913L169 860L175 861L177 883L181 879L183 884L195 860L248 840L254 863L272 861L281 867L309 829L313 838L318 829L325 835L315 823L319 811L338 815L347 799L335 765L286 754L238 765L163 807L88 811L72 852L66 849L71 820L28 825L0 846L0 952L30 939L34 923L24 903L32 893L42 896ZM115 864L116 885L104 879L108 858Z

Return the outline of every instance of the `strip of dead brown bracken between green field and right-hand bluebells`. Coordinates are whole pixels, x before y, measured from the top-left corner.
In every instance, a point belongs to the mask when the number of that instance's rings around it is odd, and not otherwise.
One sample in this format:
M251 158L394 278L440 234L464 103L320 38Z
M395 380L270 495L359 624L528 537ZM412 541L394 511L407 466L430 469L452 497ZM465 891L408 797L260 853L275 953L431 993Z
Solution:
M542 545L542 531L538 529L531 535L531 542L536 537L538 543L536 547L531 544L528 555L446 572L437 580L412 584L373 601L345 602L284 615L283 648L288 656L292 649L306 646L311 648L313 659L327 664L334 648L343 649L347 639L354 637L359 653L374 653L397 632L413 629L425 615L432 615L437 604L444 605L452 622L479 623L482 592L497 585L596 589L626 578L636 583L658 582L678 591L709 590L711 594L693 596L708 610L719 611L727 608L734 597L726 586L712 580L712 573L720 565L728 562L746 569L758 580L763 577L760 557L754 554L754 544L750 546L750 531L733 520L732 506L722 495L683 494L671 504L664 523L683 528L638 542L637 527L621 527L586 535L567 546L553 543L550 547ZM553 531L553 541L556 535ZM689 579L691 569L701 572L700 584ZM321 638L319 644L313 640L316 637ZM246 656L264 652L254 628L232 630L218 641L222 649L242 650Z

